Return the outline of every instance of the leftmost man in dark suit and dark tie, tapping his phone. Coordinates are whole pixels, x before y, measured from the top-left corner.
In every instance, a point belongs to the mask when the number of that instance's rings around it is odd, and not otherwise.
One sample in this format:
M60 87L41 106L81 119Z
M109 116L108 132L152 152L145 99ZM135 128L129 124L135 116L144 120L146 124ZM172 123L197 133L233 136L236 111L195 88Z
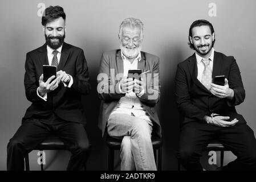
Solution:
M72 153L67 170L82 170L90 148L81 102L81 96L91 89L87 62L82 49L64 43L63 8L50 6L44 13L46 44L27 53L25 63L26 97L32 104L8 143L7 170L23 170L25 155L50 134L63 140ZM44 82L43 65L56 66L56 78Z

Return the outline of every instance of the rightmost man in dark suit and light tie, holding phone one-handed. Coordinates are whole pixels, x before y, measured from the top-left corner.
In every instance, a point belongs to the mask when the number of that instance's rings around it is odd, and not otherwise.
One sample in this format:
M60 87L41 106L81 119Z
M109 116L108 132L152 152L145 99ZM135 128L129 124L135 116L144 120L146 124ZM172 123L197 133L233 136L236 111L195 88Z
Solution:
M213 49L215 33L207 20L196 20L189 29L189 45L196 53L178 64L176 101L182 117L179 157L187 170L202 170L201 151L218 139L237 156L223 169L256 169L253 130L235 106L245 99L242 79L233 56ZM224 85L213 84L225 76Z

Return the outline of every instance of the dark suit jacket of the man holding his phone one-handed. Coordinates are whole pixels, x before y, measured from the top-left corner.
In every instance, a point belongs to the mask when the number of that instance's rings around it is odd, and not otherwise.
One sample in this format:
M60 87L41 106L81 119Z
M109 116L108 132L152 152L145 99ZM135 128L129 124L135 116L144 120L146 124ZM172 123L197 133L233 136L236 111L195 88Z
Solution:
M175 94L178 110L182 115L182 123L203 122L204 116L212 112L229 116L230 120L237 118L239 122L245 122L242 115L237 114L235 110L235 105L241 104L245 99L245 90L243 89L238 65L233 56L225 56L223 53L214 52L213 80L214 76L218 75L226 76L229 81L229 88L234 90L233 100L214 96L197 80L195 53L178 64Z

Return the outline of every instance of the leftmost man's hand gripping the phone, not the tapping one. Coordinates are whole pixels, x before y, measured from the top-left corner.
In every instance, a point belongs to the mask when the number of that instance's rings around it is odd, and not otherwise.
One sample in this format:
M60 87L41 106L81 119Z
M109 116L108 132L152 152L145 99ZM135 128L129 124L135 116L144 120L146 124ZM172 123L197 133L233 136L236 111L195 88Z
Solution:
M51 92L52 90L55 90L56 88L58 88L59 79L57 78L54 81L52 81L54 78L55 78L55 76L51 76L50 78L48 78L48 80L46 82L43 82L43 74L40 76L39 88L38 88L38 92L39 92L40 96L44 96L44 94ZM51 82L51 84L50 84L50 82Z

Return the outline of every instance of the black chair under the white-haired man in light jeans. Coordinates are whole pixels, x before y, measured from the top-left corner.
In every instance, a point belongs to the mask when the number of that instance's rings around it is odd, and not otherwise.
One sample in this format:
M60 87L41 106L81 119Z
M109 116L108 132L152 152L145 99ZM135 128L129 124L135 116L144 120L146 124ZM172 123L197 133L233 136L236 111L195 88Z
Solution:
M155 162L157 164L157 170L161 171L162 165L162 138L153 136L151 138L152 146L154 150ZM121 140L109 137L106 138L106 144L108 146L108 171L113 171L114 168L114 152L120 150ZM158 151L158 159L157 152Z

